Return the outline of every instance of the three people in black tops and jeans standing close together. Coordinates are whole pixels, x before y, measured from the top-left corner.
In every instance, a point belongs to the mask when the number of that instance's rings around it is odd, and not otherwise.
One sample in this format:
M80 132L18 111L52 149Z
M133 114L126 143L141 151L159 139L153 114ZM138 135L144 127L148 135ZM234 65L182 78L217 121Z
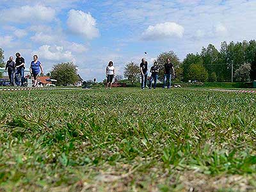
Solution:
M158 74L159 74L159 67L157 65L157 61L154 62L154 65L150 68L151 76L149 79L149 89L152 88L152 82L154 80L154 89L156 89ZM140 74L141 74L141 89L144 90L147 87L147 77L148 77L148 62L145 58L142 58L140 63ZM172 84L172 76L175 76L175 70L173 64L171 63L170 59L166 59L166 63L164 64L164 84L163 88L171 88Z

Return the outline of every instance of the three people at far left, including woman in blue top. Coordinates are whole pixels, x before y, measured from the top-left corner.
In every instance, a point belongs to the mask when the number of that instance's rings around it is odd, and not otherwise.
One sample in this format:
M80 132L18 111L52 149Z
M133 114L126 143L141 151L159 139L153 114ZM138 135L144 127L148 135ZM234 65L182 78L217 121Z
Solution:
M25 86L25 78L24 78L24 72L25 72L25 60L22 58L19 52L15 54L16 59L13 60L13 57L10 56L9 60L6 63L5 71L8 72L8 76L10 79L10 85L11 86ZM33 56L33 61L31 61L30 65L30 73L31 76L34 79L33 86L37 85L37 77L39 76L40 72L41 74L44 74L44 70L42 67L42 64L40 61L38 61L38 56ZM13 78L14 76L14 78ZM14 84L15 80L15 84Z

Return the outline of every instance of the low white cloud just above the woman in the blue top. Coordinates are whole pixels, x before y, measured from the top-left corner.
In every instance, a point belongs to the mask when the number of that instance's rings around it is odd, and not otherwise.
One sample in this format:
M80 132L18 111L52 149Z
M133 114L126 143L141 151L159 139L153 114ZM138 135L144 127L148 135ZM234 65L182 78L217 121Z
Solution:
M56 45L42 45L38 51L33 51L33 54L37 54L40 58L48 61L75 61L71 51L66 51L63 47Z

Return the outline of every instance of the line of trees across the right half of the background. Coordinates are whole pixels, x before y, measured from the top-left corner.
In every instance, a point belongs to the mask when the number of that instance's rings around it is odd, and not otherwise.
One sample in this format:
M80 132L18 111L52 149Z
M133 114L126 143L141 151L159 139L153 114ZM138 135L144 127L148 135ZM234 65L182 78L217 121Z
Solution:
M200 53L189 53L181 62L173 51L163 52L157 56L160 68L159 76L163 77L163 66L166 58L170 58L175 66L178 81L210 81L225 82L252 81L256 79L256 41L222 42L220 51L209 44L202 47ZM125 65L124 77L131 83L140 79L138 63L130 62Z

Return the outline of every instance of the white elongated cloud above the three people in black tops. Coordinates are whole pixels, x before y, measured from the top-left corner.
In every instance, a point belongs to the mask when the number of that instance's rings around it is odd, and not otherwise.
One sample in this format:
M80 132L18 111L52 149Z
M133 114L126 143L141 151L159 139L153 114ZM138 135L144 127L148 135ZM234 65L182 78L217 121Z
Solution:
M156 26L148 26L142 33L143 40L163 40L177 36L181 38L184 33L184 28L175 22L164 22L156 24Z

